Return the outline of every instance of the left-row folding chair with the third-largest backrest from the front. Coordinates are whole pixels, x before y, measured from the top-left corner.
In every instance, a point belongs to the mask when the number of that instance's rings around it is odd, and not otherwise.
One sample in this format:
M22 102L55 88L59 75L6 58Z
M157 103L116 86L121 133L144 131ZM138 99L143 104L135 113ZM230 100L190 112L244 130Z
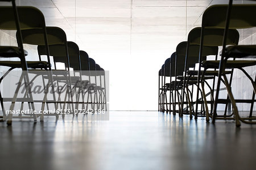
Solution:
M38 53L40 56L45 55L44 45L38 45ZM78 52L77 52L78 50ZM64 83L62 89L66 87L66 93L64 100L61 99L61 93L59 93L59 98L57 103L63 103L63 107L61 109L61 113L67 114L67 110L69 113L75 114L75 109L77 106L77 93L75 92L76 86L79 85L77 82L80 81L80 73L79 76L75 76L75 73L80 72L80 59L79 59L79 47L73 42L65 41L64 44L55 44L49 45L50 55L53 57L53 61L56 68L56 63L64 63L65 69L55 69L53 70L53 81L59 83ZM71 71L73 68L74 71ZM76 102L73 102L73 92L75 92ZM68 98L68 99L67 99ZM76 104L74 106L74 104ZM67 106L67 107L66 107ZM64 117L64 114L63 114Z

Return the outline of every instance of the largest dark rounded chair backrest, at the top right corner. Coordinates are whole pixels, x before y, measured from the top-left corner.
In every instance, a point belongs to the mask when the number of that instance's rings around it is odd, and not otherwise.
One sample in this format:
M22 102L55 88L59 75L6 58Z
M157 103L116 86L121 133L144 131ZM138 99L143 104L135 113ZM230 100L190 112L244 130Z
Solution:
M202 27L225 28L228 5L213 5L203 14ZM232 5L229 28L250 28L256 26L256 4Z

